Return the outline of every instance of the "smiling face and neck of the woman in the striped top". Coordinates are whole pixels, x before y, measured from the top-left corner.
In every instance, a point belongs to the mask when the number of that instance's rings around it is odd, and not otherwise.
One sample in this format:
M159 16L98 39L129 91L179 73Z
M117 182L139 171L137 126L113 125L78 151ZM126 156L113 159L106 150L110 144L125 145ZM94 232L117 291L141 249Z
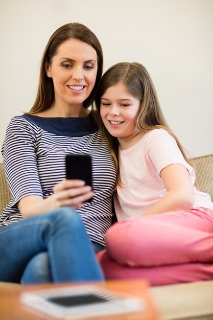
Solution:
M83 107L96 82L97 52L77 39L64 41L58 48L46 75L53 79L57 107Z

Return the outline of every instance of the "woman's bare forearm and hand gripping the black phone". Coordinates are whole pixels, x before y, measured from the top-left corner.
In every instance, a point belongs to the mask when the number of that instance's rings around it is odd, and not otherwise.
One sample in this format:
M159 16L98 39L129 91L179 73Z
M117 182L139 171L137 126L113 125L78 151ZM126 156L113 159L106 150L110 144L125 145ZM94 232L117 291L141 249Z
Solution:
M36 195L23 197L17 203L22 217L35 216L64 206L77 209L93 196L91 187L85 186L82 180L62 180L53 191L46 199Z

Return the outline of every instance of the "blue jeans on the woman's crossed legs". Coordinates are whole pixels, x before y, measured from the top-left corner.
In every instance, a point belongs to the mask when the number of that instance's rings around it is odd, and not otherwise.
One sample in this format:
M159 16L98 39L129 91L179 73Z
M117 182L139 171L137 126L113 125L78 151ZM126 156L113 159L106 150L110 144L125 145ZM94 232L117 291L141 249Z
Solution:
M42 253L42 254L41 254ZM0 229L0 281L101 281L103 273L79 214L63 207ZM49 267L49 278L39 257ZM35 265L38 267L34 275ZM39 279L39 277L41 277ZM45 281L44 278L45 278Z

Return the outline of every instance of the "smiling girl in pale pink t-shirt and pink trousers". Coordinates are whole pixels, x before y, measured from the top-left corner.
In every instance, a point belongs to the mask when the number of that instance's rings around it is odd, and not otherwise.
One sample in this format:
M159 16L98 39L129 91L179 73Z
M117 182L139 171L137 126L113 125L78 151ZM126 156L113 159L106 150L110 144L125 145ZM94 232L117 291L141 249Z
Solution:
M194 186L195 171L146 68L127 62L109 68L96 105L117 168L120 222L99 256L106 277L143 277L152 285L212 279L213 203Z

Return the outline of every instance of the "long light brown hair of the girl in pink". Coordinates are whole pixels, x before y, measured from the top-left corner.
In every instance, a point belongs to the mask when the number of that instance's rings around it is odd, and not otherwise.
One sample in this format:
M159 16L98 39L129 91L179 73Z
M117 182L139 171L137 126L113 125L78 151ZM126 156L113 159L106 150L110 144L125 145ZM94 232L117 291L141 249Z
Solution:
M99 90L96 96L96 109L97 112L97 122L101 129L102 134L107 140L109 150L114 158L117 172L116 186L119 183L119 142L117 138L114 138L105 128L101 116L100 116L100 106L101 98L105 94L106 90L116 84L123 83L129 93L140 100L140 108L136 117L136 126L139 131L150 131L153 129L162 128L167 130L173 138L176 140L177 145L185 159L188 163L188 158L186 153L181 146L179 140L175 134L170 129L167 121L165 120L159 101L157 93L152 82L152 79L146 70L146 68L140 63L133 62L121 62L110 67L103 75ZM192 164L191 164L192 165Z

